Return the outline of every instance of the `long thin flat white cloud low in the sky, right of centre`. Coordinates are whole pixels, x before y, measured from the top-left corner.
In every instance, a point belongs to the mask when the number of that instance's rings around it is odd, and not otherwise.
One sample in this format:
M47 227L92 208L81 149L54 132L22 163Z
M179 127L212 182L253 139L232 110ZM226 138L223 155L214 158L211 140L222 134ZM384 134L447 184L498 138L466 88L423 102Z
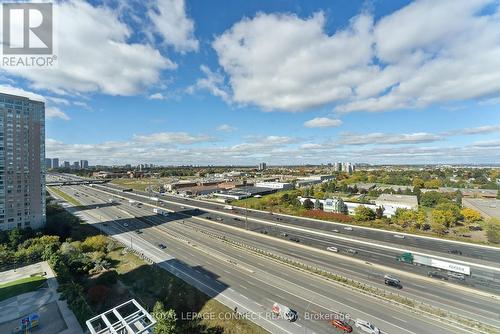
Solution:
M441 136L417 132L417 133L367 133L367 134L355 134L355 133L343 133L340 136L339 144L343 145L371 145L371 144L421 144L421 143L431 143L443 140Z

